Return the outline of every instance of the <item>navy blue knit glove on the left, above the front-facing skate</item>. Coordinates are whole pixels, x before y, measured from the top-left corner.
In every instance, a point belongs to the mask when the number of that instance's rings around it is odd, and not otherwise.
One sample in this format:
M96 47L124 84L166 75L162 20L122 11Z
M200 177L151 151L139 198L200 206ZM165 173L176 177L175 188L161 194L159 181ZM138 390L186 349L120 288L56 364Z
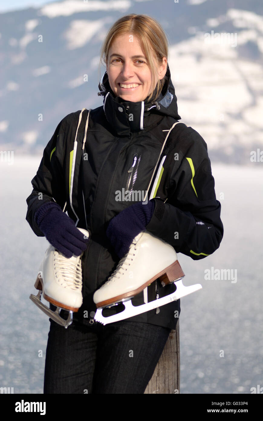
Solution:
M50 242L66 257L80 256L86 250L89 238L84 238L76 228L74 221L66 215L55 202L47 202L40 206L34 219Z

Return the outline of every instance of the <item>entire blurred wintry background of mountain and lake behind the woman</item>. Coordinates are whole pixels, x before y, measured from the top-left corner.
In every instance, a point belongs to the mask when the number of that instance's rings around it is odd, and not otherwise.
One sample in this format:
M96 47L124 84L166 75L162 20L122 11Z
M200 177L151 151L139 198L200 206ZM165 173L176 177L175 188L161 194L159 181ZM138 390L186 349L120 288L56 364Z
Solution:
M43 149L63 117L103 105L100 48L119 17L157 19L181 121L208 145L224 238L179 253L181 393L263 387L263 3L260 0L2 1L0 5L0 387L43 393L49 322L29 300L47 248L26 222ZM235 279L205 279L230 269ZM223 351L223 352L222 352ZM258 389L259 389L258 388Z

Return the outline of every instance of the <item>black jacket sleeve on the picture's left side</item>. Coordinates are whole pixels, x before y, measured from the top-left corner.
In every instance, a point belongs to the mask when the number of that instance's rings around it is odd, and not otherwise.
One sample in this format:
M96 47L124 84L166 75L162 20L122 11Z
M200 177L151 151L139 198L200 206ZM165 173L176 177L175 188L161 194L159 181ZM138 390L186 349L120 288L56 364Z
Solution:
M44 234L34 220L37 209L46 202L56 202L63 209L66 202L65 182L63 181L65 128L66 117L60 121L44 149L37 174L31 181L32 193L26 199L28 206L26 221L38 237L44 237Z

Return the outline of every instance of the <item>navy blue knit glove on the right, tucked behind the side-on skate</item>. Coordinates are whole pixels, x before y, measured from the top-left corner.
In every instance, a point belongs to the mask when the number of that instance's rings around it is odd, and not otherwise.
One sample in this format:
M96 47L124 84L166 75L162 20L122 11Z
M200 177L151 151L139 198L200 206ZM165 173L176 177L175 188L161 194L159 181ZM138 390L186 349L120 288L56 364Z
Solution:
M106 235L119 258L125 256L134 237L145 230L153 216L155 201L152 199L147 204L142 203L134 203L122 210L108 224Z

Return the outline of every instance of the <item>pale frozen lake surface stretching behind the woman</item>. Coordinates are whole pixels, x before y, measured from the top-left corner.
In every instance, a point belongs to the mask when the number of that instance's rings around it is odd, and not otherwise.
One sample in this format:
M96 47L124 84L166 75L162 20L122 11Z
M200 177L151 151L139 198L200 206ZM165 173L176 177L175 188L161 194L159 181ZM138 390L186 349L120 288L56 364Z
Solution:
M13 165L0 163L0 386L14 393L43 393L49 321L29 295L36 291L48 242L25 219L40 160L14 157ZM263 387L263 163L217 164L212 173L222 205L221 246L200 261L178 255L184 285L203 285L181 298L181 393L250 394L252 387ZM212 267L237 276L205 280Z

